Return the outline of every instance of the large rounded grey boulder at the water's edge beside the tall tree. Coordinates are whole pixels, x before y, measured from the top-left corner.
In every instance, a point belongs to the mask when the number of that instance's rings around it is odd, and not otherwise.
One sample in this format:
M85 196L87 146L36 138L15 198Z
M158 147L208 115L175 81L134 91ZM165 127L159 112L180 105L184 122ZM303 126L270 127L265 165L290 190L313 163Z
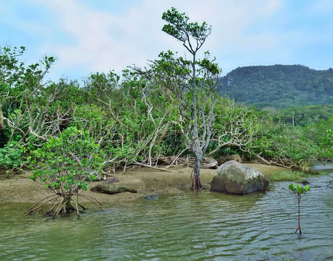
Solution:
M268 187L268 180L261 172L232 160L217 169L210 186L211 191L245 195L265 191Z

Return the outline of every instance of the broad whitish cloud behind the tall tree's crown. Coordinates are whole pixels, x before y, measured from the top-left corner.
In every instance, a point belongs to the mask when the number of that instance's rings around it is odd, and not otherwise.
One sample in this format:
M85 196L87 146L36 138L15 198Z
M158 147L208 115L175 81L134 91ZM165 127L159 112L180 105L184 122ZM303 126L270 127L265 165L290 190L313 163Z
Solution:
M203 46L213 56L274 50L281 39L270 31L247 33L258 21L269 21L279 9L279 0L143 0L124 15L95 10L76 0L33 0L54 12L60 30L70 44L47 43L41 50L59 57L56 65L66 70L83 66L87 71L121 71L133 63L144 66L168 49L183 54L181 43L162 32L162 13L171 6L185 12L191 21L206 21L212 34ZM204 3L204 4L203 4ZM57 23L53 23L57 24ZM55 28L48 28L51 32ZM220 64L220 66L224 66Z

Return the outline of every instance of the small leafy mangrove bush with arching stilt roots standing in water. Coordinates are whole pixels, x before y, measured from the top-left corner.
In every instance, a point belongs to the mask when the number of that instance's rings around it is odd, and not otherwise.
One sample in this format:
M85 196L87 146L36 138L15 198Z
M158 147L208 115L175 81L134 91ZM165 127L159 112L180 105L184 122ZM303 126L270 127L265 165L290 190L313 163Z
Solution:
M61 198L60 202L53 203L47 212L51 215L54 212L55 218L60 212L75 211L79 216L79 204L73 196L82 196L100 205L95 199L87 195L81 195L81 190L88 190L89 183L97 180L102 173L104 154L99 145L89 137L88 131L78 130L76 127L69 127L64 130L60 137L51 137L41 148L33 151L28 157L30 168L33 170L31 179L45 184L45 187L54 193L51 200ZM28 211L32 212L39 207L35 205ZM73 203L74 204L73 204ZM55 208L58 206L57 208Z

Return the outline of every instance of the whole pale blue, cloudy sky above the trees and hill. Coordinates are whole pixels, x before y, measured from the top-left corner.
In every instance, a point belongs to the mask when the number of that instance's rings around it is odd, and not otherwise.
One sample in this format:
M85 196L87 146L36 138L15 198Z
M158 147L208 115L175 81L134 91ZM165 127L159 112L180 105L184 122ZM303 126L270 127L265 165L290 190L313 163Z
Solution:
M162 31L171 7L207 22L209 50L225 75L238 66L302 64L333 67L332 0L0 0L0 45L25 46L27 64L57 61L47 77L143 67L181 42Z

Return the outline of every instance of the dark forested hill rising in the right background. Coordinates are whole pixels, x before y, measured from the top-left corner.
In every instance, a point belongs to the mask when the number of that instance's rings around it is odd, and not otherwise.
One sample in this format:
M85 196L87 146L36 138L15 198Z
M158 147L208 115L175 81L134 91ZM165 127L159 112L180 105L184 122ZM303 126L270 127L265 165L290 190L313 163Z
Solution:
M218 91L259 109L333 104L333 69L304 65L238 67L226 74Z

